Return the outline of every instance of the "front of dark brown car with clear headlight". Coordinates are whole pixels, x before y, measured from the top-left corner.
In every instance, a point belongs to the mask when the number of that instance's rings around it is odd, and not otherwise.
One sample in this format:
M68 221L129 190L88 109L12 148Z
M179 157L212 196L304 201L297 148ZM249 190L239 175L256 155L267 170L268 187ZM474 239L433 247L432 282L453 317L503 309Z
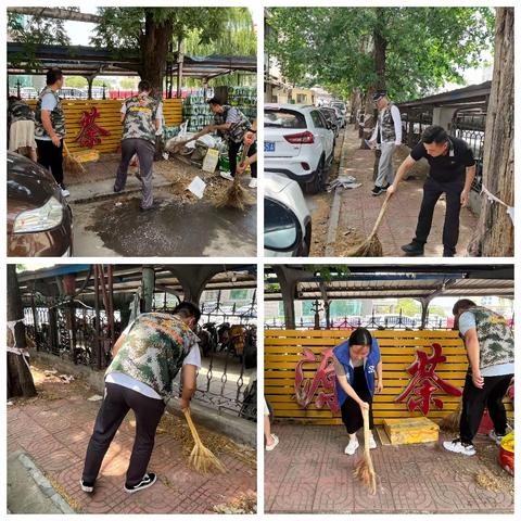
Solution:
M72 212L51 174L8 152L8 255L71 256Z

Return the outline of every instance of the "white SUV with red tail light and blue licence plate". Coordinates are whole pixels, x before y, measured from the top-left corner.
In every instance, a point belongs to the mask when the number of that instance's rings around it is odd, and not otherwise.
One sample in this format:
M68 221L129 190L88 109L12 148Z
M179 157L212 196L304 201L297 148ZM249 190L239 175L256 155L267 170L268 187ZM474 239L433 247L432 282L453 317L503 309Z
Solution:
M306 193L326 186L334 132L313 105L265 105L264 169L297 181Z

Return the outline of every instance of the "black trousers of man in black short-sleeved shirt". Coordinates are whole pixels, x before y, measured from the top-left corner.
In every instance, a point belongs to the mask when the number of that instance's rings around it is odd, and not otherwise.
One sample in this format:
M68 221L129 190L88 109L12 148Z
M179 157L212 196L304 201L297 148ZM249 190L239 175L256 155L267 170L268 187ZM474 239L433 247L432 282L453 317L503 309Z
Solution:
M443 251L444 254L454 255L456 253L456 244L459 238L459 212L461 209L461 192L463 190L463 181L457 179L450 182L439 182L429 177L423 186L423 199L421 201L420 215L418 216L418 225L416 227L415 242L425 244L429 233L431 232L432 216L437 200L445 192L446 211L445 223L443 225Z

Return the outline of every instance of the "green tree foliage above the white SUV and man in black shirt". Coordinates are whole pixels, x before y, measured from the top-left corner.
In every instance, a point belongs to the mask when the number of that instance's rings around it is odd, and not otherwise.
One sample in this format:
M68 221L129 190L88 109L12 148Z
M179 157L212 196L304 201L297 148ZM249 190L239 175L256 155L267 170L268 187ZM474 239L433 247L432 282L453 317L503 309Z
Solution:
M345 94L387 88L418 98L482 64L492 50L490 8L274 8L266 48L282 74Z

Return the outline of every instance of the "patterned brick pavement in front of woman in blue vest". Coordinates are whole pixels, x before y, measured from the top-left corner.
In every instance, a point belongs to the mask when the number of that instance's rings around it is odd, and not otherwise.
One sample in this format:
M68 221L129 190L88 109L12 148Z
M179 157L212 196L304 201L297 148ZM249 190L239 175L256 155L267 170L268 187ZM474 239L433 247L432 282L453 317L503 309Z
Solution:
M371 450L378 474L371 496L344 455L343 425L275 423L280 444L265 453L265 511L269 513L513 513L513 478L497 463L497 446L476 440L473 457L440 444ZM361 433L359 433L361 436ZM453 435L441 434L442 440ZM357 453L363 454L363 441Z

